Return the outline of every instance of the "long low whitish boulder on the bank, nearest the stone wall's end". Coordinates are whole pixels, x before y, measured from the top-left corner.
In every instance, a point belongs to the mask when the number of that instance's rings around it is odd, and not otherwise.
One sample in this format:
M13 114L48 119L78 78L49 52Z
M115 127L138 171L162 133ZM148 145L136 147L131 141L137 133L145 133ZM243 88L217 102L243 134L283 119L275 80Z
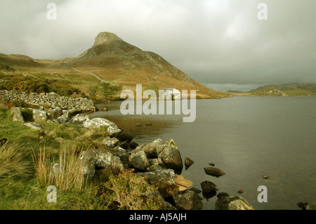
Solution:
M117 127L112 121L105 118L94 118L92 120L88 119L83 123L84 127L87 129L100 129L102 127L107 127L107 132L110 136L116 136L121 132L121 129Z

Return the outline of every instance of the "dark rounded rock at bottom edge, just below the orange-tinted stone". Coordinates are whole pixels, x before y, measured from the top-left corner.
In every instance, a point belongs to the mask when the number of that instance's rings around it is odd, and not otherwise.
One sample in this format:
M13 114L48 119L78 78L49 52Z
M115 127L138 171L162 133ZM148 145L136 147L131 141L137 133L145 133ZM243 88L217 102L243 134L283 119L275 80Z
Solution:
M203 208L202 197L192 190L185 190L172 195L174 205L180 210L201 210Z

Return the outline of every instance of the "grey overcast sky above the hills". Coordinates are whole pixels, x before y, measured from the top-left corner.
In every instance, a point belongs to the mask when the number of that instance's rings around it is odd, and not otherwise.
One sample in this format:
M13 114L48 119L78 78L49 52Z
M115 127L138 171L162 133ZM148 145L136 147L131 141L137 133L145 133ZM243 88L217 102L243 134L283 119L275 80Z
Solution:
M57 6L48 20L47 4ZM258 20L259 3L268 20ZM315 0L0 0L0 53L76 57L99 32L211 88L316 83Z

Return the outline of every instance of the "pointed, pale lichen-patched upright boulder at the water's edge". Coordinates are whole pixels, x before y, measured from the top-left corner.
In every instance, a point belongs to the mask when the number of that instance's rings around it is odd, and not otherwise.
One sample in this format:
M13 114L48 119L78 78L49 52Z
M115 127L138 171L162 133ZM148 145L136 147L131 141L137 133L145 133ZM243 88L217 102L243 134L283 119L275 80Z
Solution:
M162 158L166 168L183 169L183 161L176 143L171 139L164 145L157 147L158 158Z

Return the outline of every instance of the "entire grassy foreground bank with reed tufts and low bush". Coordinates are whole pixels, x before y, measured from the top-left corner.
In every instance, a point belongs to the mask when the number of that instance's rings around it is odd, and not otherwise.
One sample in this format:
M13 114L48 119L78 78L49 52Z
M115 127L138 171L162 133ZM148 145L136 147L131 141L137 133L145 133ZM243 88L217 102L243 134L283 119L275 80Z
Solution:
M84 181L79 152L104 147L105 130L44 122L33 131L5 109L0 119L0 138L8 139L0 148L0 210L159 209L156 189L131 170L108 168ZM56 203L47 201L50 185L57 188Z

